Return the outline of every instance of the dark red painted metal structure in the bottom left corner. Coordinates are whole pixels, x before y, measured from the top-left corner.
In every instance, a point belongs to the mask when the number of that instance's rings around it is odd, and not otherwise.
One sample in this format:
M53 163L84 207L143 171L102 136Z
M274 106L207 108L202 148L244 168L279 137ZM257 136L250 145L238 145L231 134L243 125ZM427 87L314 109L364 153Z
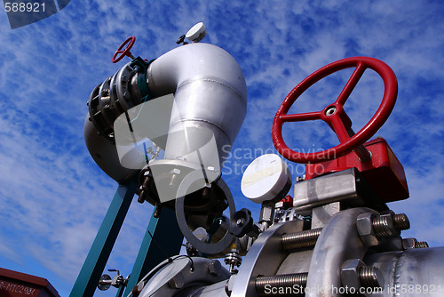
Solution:
M0 296L60 297L48 280L2 268Z

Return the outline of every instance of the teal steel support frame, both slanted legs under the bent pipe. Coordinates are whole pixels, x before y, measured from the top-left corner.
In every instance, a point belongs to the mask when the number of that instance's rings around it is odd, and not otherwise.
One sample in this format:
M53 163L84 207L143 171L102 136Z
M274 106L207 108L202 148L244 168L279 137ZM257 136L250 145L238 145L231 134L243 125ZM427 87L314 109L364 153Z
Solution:
M91 245L90 252L69 294L70 297L90 297L94 295L99 284L99 278L107 265L107 260L115 245L115 239L128 213L137 187L138 182L134 179L125 185L119 185L117 188L97 236ZM158 263L166 258L178 254L182 241L183 235L178 229L176 215L172 210L163 208L158 219L151 215L124 296L131 293L132 287L149 270L155 268ZM119 288L117 295L121 295L122 291L123 287Z

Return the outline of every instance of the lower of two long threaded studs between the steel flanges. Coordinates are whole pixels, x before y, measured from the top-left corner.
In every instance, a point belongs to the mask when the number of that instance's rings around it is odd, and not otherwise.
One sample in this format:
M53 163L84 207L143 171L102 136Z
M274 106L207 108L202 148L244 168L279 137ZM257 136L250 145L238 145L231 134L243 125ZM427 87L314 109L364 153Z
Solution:
M305 288L308 272L283 274L272 277L256 277L255 286L256 293L259 296L266 296L266 285L272 287L293 287L295 285ZM284 290L285 291L285 290ZM284 294L288 296L288 293Z

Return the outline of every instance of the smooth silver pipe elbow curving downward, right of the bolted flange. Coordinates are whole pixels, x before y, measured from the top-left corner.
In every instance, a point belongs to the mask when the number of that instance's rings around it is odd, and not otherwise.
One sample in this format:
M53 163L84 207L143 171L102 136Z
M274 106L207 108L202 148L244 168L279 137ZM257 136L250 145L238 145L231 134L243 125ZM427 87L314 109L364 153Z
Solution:
M155 60L147 77L155 96L175 93L165 158L211 165L215 152L202 147L214 137L221 167L247 111L245 79L233 57L211 44L187 44ZM194 154L199 149L202 160Z

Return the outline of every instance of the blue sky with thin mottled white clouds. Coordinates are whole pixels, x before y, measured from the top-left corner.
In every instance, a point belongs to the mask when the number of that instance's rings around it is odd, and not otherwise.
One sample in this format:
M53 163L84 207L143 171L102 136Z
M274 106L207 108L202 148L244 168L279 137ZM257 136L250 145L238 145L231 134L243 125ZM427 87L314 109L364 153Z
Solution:
M0 267L45 277L69 294L116 189L84 145L86 101L123 67L111 57L128 36L137 37L131 52L154 59L199 21L208 30L203 42L230 52L248 86L248 112L234 145L241 158L228 160L224 177L236 208L249 207L258 218L258 205L242 197L235 166L273 150L271 125L287 93L329 62L370 56L384 60L399 84L392 116L377 135L404 165L411 197L390 206L409 216L404 237L444 245L442 15L440 1L72 0L12 30L0 12ZM349 75L316 86L291 111L325 107ZM376 110L382 90L378 76L366 72L345 105L355 131ZM315 122L284 125L284 138L292 148L335 142L327 125ZM151 213L134 201L107 268L131 272Z

